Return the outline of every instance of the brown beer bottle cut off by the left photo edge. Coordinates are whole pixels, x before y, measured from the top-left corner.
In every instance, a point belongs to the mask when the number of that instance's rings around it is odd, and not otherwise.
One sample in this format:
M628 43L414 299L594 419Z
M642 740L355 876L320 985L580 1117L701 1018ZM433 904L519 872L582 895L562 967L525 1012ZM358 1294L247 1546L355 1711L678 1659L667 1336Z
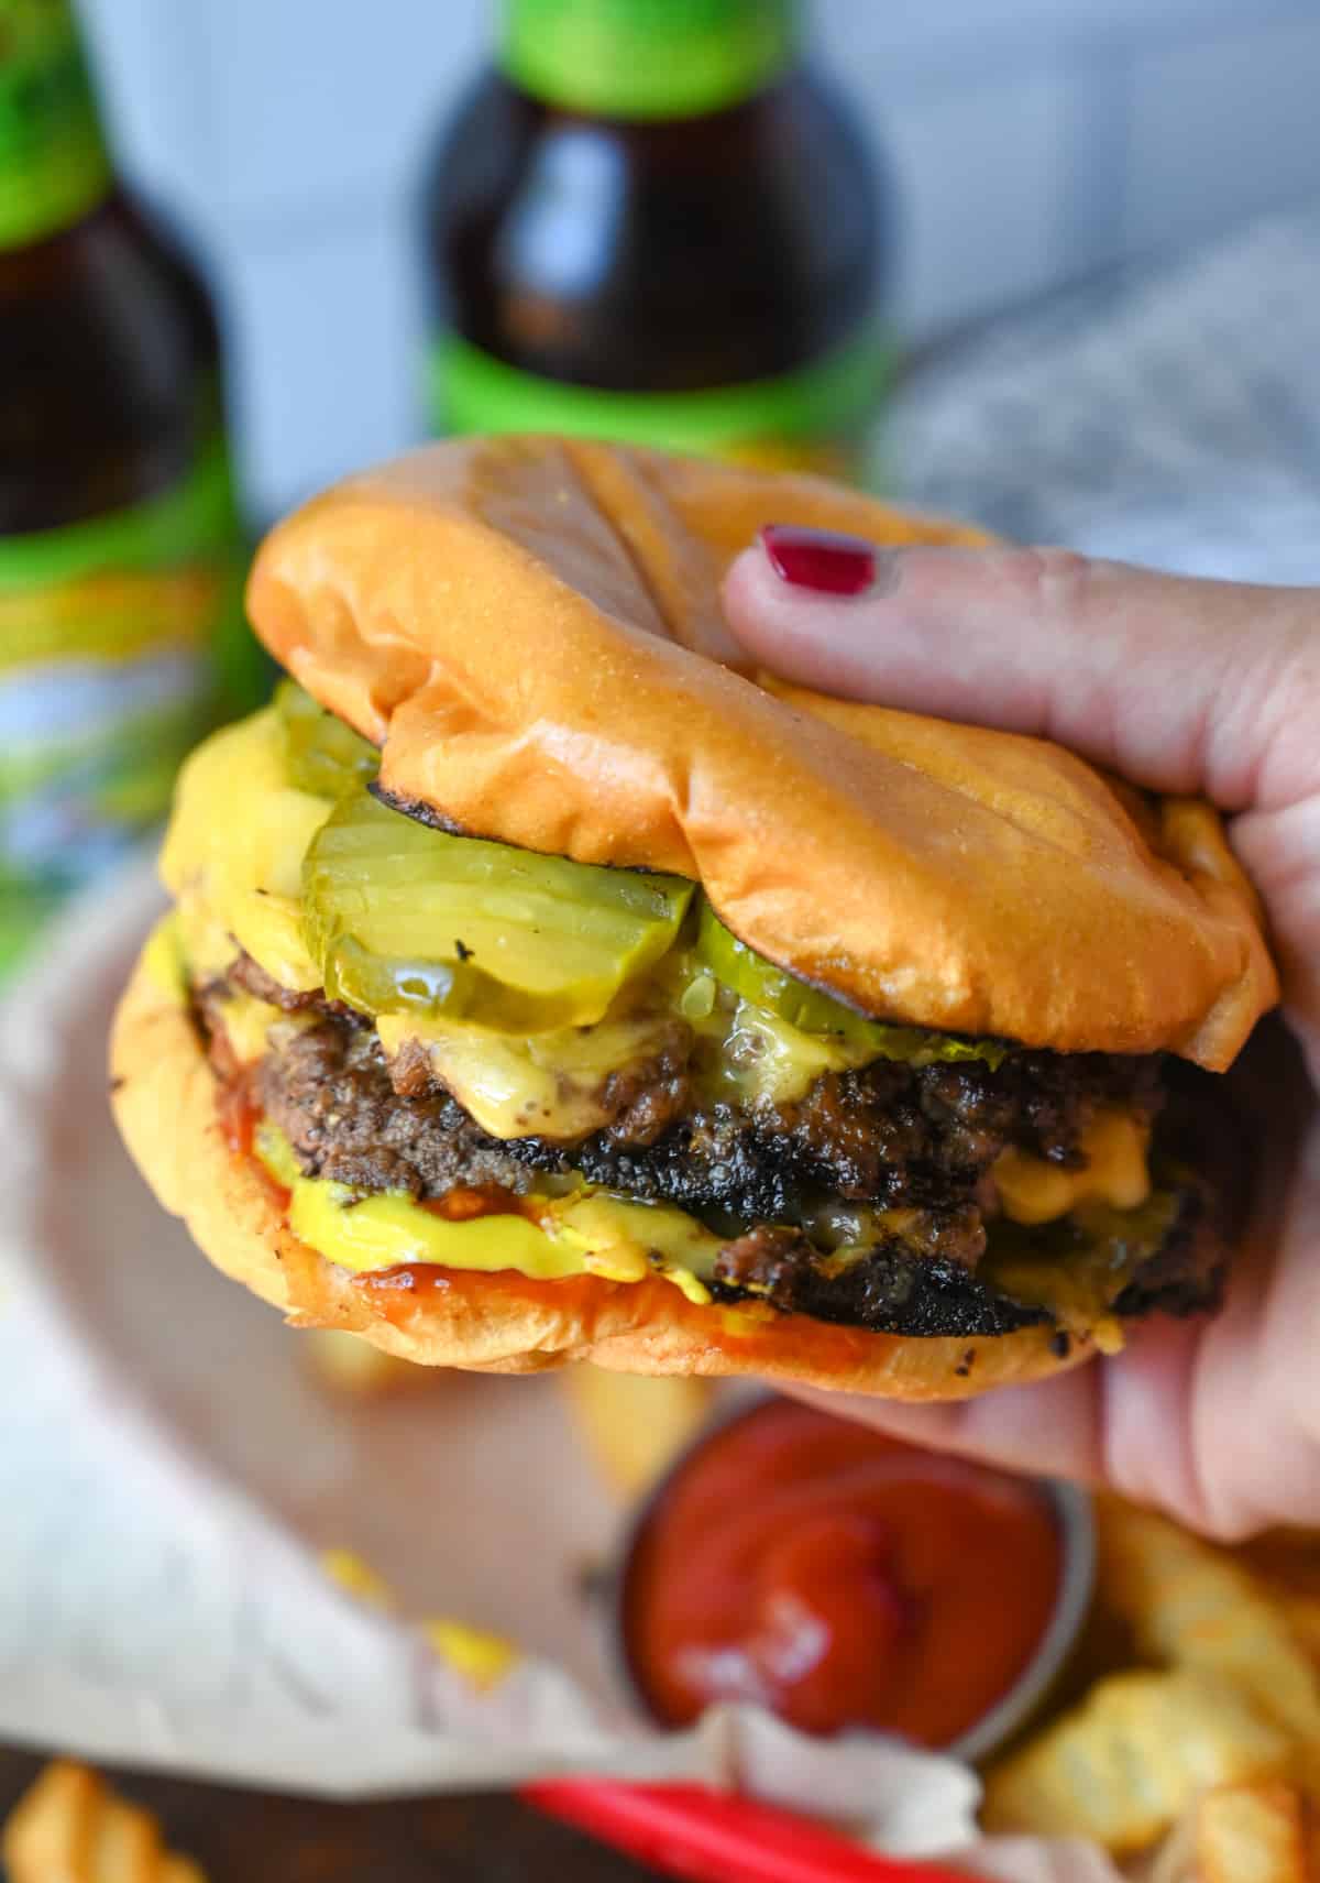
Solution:
M207 292L117 186L70 0L0 0L0 970L260 685Z

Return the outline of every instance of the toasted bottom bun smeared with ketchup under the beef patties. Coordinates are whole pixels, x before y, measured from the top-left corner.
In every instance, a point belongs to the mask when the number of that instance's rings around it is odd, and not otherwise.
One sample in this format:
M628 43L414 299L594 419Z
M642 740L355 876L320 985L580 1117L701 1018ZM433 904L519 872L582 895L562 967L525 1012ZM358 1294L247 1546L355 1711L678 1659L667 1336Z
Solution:
M759 1375L887 1399L970 1399L1087 1360L1054 1329L913 1339L761 1305L702 1307L670 1282L531 1280L459 1269L350 1275L290 1233L260 1167L233 1152L186 1000L143 955L115 1017L111 1103L158 1201L201 1252L296 1328L341 1328L431 1367L539 1373L591 1360L620 1373Z

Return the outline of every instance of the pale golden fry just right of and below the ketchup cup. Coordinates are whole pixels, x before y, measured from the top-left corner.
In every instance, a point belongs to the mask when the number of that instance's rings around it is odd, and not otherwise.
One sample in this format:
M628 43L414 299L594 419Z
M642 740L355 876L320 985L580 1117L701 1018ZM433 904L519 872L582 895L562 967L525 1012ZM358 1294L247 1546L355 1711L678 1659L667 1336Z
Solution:
M1228 1682L1199 1670L1115 1674L990 1770L983 1823L1130 1855L1205 1789L1275 1779L1292 1755L1288 1732Z

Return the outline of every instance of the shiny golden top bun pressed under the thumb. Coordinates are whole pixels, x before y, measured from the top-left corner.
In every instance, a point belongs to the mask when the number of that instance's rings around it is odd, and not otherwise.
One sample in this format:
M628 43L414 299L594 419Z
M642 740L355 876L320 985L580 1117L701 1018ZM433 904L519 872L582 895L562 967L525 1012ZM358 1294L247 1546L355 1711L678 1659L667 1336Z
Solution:
M1277 983L1216 813L749 672L719 582L766 522L987 540L817 478L465 439L281 523L249 608L382 785L456 829L695 877L881 1019L1228 1066Z

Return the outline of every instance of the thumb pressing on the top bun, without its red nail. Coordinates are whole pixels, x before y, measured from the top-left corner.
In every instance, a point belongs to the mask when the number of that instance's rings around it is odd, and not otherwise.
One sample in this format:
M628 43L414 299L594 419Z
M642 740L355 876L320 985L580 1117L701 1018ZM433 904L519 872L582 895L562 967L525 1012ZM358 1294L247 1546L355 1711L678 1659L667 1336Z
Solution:
M1320 789L1320 593L1162 576L1068 550L876 552L861 595L725 584L738 640L829 693L1038 732L1224 810Z

